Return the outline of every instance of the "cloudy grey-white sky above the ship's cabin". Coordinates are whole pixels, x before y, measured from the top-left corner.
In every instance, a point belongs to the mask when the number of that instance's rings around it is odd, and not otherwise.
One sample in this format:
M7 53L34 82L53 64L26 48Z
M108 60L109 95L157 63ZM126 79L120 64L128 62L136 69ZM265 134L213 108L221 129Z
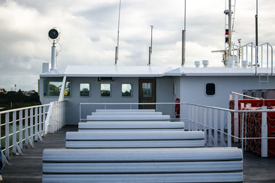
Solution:
M222 66L224 0L187 0L186 64ZM119 0L0 0L0 88L37 90L50 62L47 32L61 30L57 66L113 65ZM259 1L259 43L275 44L275 2ZM256 0L236 0L233 41L254 42ZM146 65L153 25L153 65L181 64L184 0L122 0L118 65ZM57 47L60 49L60 47Z

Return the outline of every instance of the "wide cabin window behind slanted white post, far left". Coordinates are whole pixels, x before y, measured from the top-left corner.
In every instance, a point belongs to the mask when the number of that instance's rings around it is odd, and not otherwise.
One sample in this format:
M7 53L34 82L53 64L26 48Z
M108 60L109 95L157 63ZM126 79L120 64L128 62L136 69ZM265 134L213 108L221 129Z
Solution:
M61 92L62 80L44 81L44 96L59 96ZM71 95L71 84L66 82L65 96Z

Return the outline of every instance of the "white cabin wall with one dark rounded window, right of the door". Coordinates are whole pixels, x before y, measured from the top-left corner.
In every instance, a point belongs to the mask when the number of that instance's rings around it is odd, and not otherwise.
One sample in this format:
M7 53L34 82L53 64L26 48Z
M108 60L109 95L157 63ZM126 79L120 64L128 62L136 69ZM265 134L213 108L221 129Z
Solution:
M182 76L180 83L181 102L229 108L230 92L242 93L243 90L259 89L259 76ZM206 95L207 83L215 84L214 96ZM270 77L270 88L274 86L275 78ZM181 108L181 118L186 117L187 112L187 108Z

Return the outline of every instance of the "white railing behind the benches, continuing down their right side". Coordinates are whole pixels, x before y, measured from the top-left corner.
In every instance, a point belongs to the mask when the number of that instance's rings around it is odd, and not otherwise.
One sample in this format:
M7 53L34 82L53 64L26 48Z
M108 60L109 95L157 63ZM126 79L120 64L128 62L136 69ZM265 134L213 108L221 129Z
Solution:
M117 106L124 106L123 109L136 109L139 105L155 105L156 111L161 112L159 106L167 106L179 104L181 112L186 111L186 114L180 114L179 119L171 118L171 121L184 121L185 130L188 131L203 131L205 133L205 143L208 147L232 147L232 138L234 141L240 141L242 149L247 140L260 139L261 140L261 156L267 157L267 139L274 139L275 137L267 136L267 112L275 112L275 110L267 110L263 106L262 110L230 110L226 108L217 108L213 106L203 106L194 103L80 103L80 122L87 121L83 118L84 115L91 115L91 111L83 114L85 106L93 105L95 109L118 109ZM115 107L112 107L115 106ZM246 137L244 132L244 117L249 112L261 112L261 137ZM241 114L241 126L239 123L234 123L234 134L232 134L232 114ZM173 114L172 114L173 116ZM239 119L237 119L239 121ZM241 136L239 136L241 130ZM245 136L243 136L245 134ZM246 145L246 143L245 143Z

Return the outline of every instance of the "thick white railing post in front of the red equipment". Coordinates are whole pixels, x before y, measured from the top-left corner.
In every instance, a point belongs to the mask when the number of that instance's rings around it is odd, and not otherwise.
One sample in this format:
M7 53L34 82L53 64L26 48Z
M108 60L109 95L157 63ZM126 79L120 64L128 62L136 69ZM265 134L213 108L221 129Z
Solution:
M267 110L267 106L263 106L262 110ZM267 157L267 112L262 112L262 136L261 136L261 156Z

